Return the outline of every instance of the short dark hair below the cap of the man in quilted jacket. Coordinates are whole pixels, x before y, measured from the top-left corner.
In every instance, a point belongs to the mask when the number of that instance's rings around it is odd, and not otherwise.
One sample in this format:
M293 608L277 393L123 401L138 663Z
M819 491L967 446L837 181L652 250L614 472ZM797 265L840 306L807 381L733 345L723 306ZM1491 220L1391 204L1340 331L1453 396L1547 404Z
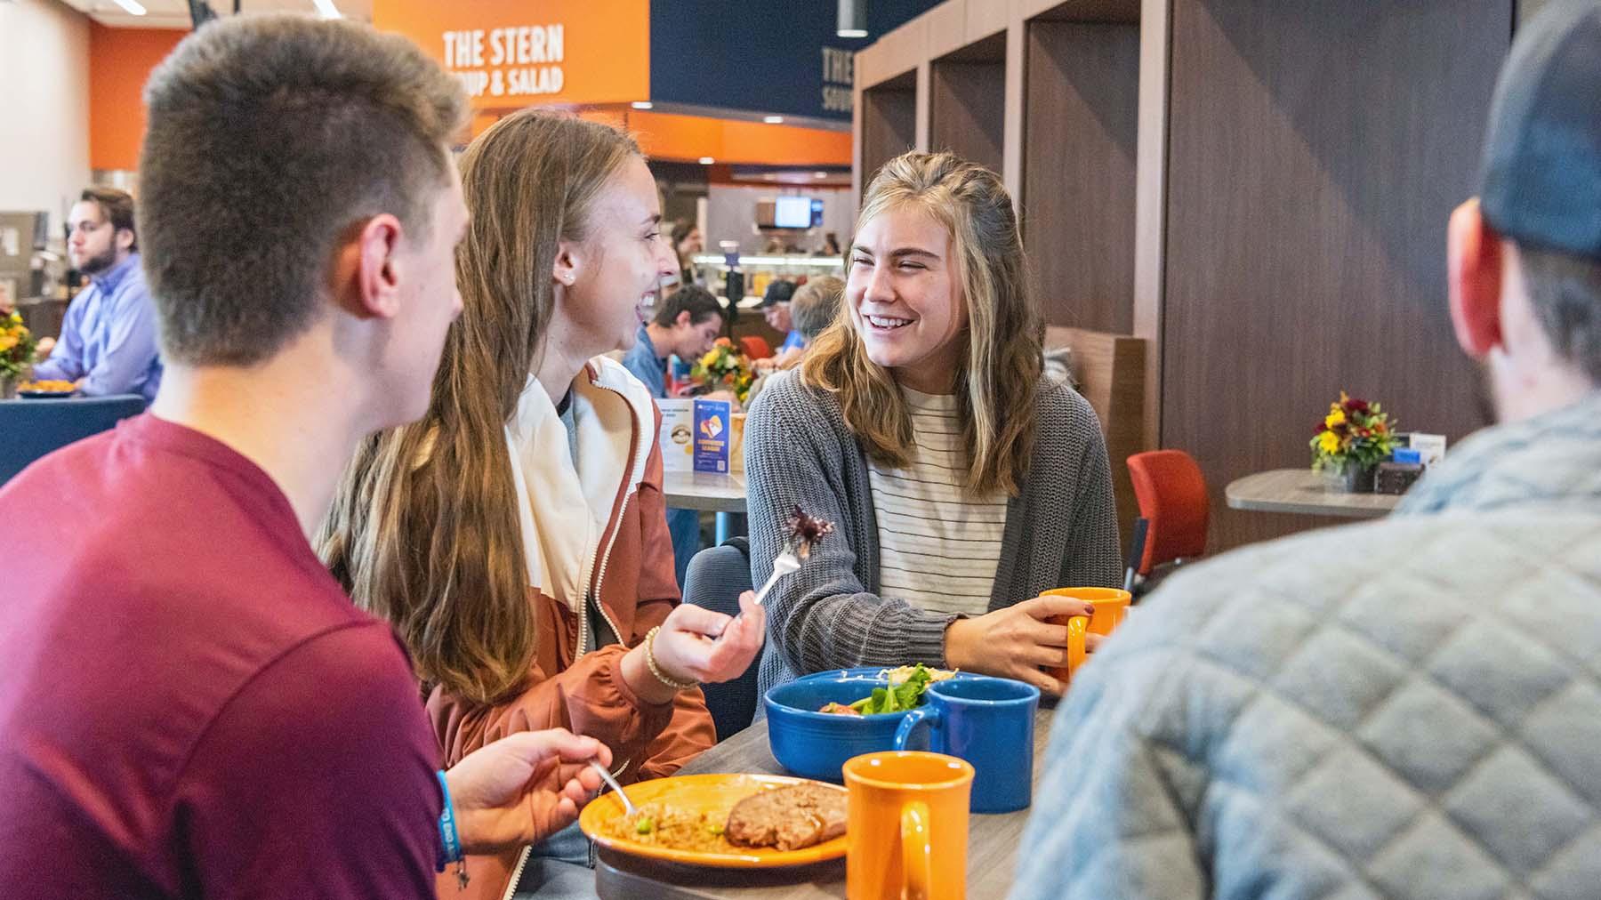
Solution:
M1523 245L1518 256L1551 348L1601 386L1601 259Z

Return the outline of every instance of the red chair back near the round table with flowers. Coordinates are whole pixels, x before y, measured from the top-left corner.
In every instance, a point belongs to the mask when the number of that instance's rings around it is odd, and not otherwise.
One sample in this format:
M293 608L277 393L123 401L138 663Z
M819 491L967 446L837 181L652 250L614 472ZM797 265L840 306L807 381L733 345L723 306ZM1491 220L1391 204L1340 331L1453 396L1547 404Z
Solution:
M1150 586L1159 567L1178 565L1206 552L1212 501L1206 477L1183 450L1151 450L1129 456L1129 479L1140 501L1145 548L1130 554L1126 583ZM1135 533L1140 532L1138 522ZM1138 575L1138 580L1134 578Z

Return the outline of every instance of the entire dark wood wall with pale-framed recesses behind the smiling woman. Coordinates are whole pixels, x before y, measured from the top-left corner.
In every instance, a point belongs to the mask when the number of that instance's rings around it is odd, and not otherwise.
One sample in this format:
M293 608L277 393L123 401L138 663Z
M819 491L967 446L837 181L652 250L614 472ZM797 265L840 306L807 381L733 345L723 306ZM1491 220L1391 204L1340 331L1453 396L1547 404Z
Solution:
M1226 549L1326 524L1223 488L1308 464L1340 389L1452 440L1486 421L1446 219L1535 5L948 0L858 54L860 107L908 72L916 146L997 167L1020 200L1049 320L1146 341L1142 448L1201 461Z

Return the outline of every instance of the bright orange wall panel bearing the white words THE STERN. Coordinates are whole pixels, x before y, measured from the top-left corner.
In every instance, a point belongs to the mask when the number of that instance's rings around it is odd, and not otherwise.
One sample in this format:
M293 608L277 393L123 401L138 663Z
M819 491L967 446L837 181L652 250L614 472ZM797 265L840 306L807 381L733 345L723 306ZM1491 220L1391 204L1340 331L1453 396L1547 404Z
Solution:
M648 0L373 0L373 24L410 37L458 74L472 91L474 109L629 102L650 96ZM560 26L560 61L503 58L496 62L496 50L504 54L519 46L533 48L527 34L522 34L525 40L516 40L519 32L500 32L496 42L496 29L538 26ZM455 53L447 56L445 35L455 42L461 32L479 32L482 59L464 62ZM546 69L560 69L560 90L516 93L519 80Z

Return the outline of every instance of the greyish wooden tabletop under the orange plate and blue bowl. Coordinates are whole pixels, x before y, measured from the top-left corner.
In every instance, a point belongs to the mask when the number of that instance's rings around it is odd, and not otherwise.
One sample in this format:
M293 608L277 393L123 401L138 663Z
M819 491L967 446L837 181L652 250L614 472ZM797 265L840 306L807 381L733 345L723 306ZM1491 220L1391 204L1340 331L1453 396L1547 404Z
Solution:
M1053 708L1034 716L1034 786L1045 761ZM767 722L719 743L682 769L701 772L757 772L784 775L767 748ZM1031 807L1033 809L1033 807ZM1005 897L1012 887L1017 850L1031 809L994 815L970 814L967 826L967 895L973 900ZM653 897L663 900L821 900L845 897L845 860L788 870L741 871L674 866L599 849L596 892L604 900Z

